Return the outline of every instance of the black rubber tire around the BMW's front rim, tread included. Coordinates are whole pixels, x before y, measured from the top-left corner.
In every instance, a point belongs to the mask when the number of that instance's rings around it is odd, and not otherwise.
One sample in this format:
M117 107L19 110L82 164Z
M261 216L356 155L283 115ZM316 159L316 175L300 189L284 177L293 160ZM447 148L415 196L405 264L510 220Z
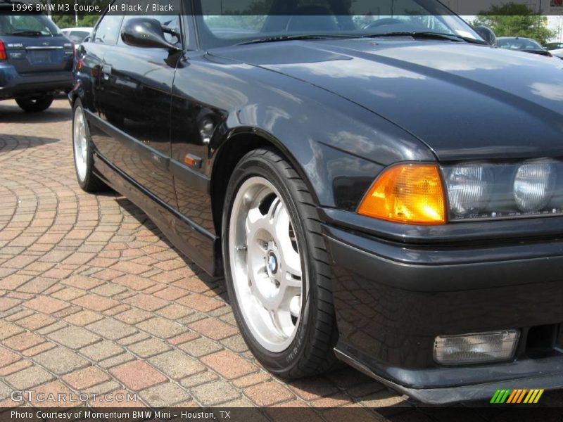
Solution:
M267 179L280 193L291 217L308 282L303 295L301 322L295 338L283 352L266 350L253 336L236 298L229 251L229 224L236 193L250 177ZM222 250L227 292L241 334L258 361L270 372L296 379L327 372L338 362L333 348L338 339L331 293L331 269L321 235L320 220L307 186L279 153L258 149L236 166L227 187L222 218ZM305 280L305 279L304 279Z

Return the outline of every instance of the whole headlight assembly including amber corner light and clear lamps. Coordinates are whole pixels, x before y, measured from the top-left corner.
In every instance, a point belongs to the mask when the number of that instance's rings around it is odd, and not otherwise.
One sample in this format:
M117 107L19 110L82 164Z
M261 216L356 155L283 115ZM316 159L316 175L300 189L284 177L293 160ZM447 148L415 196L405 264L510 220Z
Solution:
M557 174L563 174L563 161L547 159L392 165L377 177L358 214L419 225L563 215L563 177Z

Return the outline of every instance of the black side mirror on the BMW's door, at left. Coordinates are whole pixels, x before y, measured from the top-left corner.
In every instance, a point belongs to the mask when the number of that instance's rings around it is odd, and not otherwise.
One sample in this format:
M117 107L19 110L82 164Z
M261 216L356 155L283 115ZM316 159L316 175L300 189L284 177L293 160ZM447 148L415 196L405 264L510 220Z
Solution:
M156 19L133 18L127 20L121 31L121 39L125 44L134 47L180 50L174 44L166 41L163 28Z

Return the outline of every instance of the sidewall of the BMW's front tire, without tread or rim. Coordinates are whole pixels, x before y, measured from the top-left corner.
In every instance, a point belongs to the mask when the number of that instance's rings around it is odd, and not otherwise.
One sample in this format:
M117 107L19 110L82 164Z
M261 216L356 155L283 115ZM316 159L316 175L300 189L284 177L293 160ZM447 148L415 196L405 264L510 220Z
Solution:
M223 251L223 262L224 262L224 275L227 281L227 293L229 294L229 300L233 309L233 313L239 328L243 334L243 338L248 345L248 348L253 352L254 356L264 364L270 371L283 374L298 364L300 361L305 347L304 343L308 341L309 331L312 328L310 319L312 319L312 309L311 306L313 300L315 300L315 271L310 265L310 253L309 245L310 242L307 238L307 232L303 226L303 221L300 217L300 212L298 209L298 204L293 198L298 196L295 186L291 183L284 183L283 174L276 166L277 163L270 162L263 156L246 156L243 158L239 165L237 165L234 170L231 181L227 188L227 194L225 196L225 204L223 218L222 218L222 251ZM250 177L263 177L270 181L272 185L279 192L281 199L284 201L286 208L289 212L291 222L293 224L293 230L298 236L299 252L301 255L301 267L305 277L303 278L303 297L301 305L301 322L298 326L298 331L291 342L291 345L284 350L284 352L270 352L266 350L257 340L253 337L253 334L248 328L246 321L243 318L243 314L239 307L238 299L236 298L236 293L233 285L231 263L230 263L230 250L229 250L229 232L230 232L230 219L232 213L232 207L234 205L234 198L236 198L236 193L238 193L241 185L249 179Z

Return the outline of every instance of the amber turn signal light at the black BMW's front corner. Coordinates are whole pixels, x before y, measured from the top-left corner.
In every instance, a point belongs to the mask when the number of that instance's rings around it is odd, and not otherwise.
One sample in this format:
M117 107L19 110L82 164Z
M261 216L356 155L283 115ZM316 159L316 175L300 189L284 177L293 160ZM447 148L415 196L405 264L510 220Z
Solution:
M358 214L403 224L445 224L445 198L438 166L389 167L369 189Z

